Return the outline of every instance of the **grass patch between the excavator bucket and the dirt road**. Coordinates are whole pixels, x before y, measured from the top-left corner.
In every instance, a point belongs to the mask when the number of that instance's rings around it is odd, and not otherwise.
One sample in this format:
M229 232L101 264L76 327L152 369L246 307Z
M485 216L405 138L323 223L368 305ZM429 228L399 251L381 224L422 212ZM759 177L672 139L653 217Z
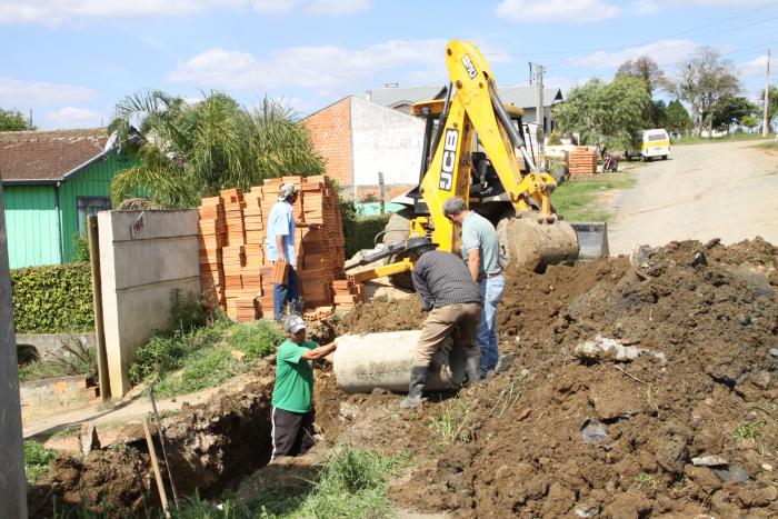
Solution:
M560 184L551 200L557 212L568 221L608 221L611 211L601 207L606 191L629 189L637 182L630 173L600 173L591 179L571 179Z

